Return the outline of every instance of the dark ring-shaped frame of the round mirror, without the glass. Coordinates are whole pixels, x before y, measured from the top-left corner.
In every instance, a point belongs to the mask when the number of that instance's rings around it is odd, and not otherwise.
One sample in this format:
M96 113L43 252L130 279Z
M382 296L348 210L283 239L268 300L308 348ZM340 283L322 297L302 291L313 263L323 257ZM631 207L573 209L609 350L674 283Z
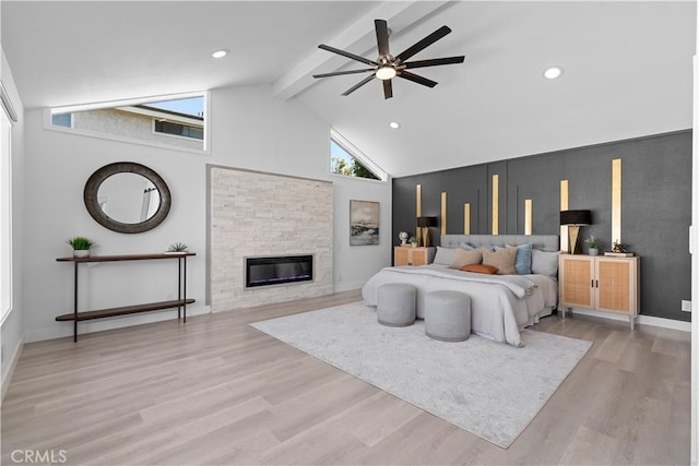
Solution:
M97 199L99 186L108 177L116 174L141 175L147 178L155 188L157 188L161 193L161 205L158 205L157 211L155 211L155 214L151 218L145 222L139 222L138 224L125 224L110 218L104 213L102 207L99 207L99 201ZM173 202L170 190L167 188L165 180L149 167L133 162L117 162L115 164L105 165L92 174L85 183L83 200L85 201L87 212L90 212L90 215L95 219L95 222L105 228L122 234L143 232L157 227L163 223L165 217L167 217Z

